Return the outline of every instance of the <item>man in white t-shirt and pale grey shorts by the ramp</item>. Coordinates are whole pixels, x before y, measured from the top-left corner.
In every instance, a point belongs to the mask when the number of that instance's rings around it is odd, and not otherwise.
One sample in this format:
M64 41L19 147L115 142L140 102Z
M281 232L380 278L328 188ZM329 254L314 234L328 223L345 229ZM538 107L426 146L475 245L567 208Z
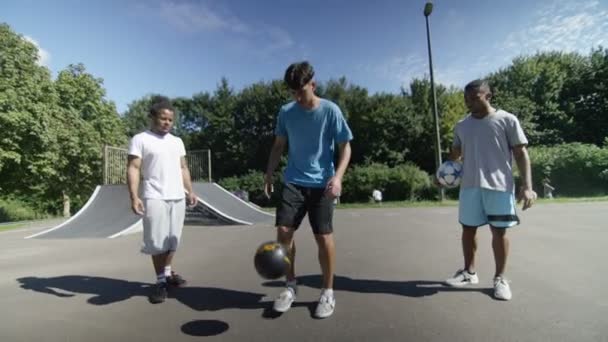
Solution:
M184 143L169 133L174 115L169 99L155 98L149 113L150 129L135 135L129 144L127 180L131 207L143 216L141 251L152 256L156 272L156 284L148 296L151 303L164 302L169 286L186 284L171 270L171 261L184 226L185 197L190 206L196 205L197 201L192 191ZM141 191L140 176L143 176Z

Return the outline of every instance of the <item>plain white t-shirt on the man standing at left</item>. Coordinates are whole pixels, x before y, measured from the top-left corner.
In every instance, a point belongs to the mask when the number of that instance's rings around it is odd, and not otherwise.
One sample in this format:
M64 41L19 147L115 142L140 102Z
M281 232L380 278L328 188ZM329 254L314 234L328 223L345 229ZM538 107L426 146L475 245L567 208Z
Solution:
M129 155L141 158L142 197L176 200L185 197L181 157L186 155L182 139L151 131L136 134L129 143Z

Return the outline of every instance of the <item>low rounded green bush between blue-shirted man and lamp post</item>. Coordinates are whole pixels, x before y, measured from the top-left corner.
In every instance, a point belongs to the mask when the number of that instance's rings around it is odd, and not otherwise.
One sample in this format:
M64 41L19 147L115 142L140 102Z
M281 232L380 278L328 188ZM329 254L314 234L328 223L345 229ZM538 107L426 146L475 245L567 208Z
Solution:
M342 202L368 202L374 189L382 191L385 201L416 200L426 197L432 187L429 175L406 163L389 168L384 164L355 166L346 172Z

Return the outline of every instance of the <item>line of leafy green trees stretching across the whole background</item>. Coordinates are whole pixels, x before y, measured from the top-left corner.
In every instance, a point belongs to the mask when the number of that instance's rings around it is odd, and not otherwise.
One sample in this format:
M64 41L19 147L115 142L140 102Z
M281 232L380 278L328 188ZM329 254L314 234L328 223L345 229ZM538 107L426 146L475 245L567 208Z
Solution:
M37 53L0 24L0 198L57 213L68 199L78 207L100 184L103 145L125 146L148 126L154 94L118 113L103 80L83 64L69 65L53 78L37 63ZM494 88L493 103L518 116L531 148L606 145L608 49L520 56L486 78ZM442 153L447 153L466 107L462 89L441 84L436 89ZM353 130L353 167L435 169L427 78L413 79L395 93L370 94L342 77L320 84L318 95L336 102ZM265 169L276 114L290 94L281 80L237 90L221 79L212 92L172 100L175 134L189 150L211 149L213 176L220 180Z

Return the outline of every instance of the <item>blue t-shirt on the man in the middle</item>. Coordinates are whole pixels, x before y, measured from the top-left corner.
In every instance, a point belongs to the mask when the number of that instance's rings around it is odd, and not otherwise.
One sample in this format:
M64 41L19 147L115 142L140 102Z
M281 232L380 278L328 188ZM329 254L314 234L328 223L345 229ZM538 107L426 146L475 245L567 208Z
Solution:
M353 139L340 108L325 99L313 110L296 102L281 107L275 135L289 145L285 183L312 188L324 188L335 174L335 144Z

